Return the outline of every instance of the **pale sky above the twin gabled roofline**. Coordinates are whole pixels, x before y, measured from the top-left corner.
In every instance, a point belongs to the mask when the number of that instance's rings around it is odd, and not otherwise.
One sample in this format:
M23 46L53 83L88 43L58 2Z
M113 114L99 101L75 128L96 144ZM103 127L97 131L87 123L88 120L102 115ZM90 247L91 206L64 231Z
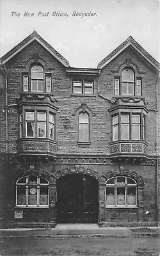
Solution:
M35 30L70 67L96 68L130 35L160 62L159 6L160 0L0 0L0 57Z

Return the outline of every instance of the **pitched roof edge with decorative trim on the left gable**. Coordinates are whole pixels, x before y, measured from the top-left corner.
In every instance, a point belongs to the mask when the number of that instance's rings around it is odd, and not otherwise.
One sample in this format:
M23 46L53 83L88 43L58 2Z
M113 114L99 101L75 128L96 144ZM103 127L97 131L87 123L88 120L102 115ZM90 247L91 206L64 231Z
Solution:
M22 51L22 49L24 49L24 47L31 44L31 42L33 42L34 40L36 40L39 44L41 44L47 51L49 51L52 54L52 56L54 56L58 61L60 61L65 67L69 67L68 61L63 56L61 56L61 54L59 52L57 52L54 48L52 48L52 46L49 45L40 35L38 35L38 33L36 33L36 31L33 31L33 33L31 33L31 35L29 35L22 42L17 44L11 51L4 54L4 56L1 57L1 59L0 59L1 64L6 63L13 56L15 56L18 52Z

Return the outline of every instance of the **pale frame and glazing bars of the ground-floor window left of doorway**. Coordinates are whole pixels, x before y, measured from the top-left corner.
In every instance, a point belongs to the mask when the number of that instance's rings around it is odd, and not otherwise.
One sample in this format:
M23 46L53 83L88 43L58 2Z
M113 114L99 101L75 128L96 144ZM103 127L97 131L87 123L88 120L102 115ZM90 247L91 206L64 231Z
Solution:
M29 184L29 177L36 177L36 182L35 184ZM19 183L19 180L20 179L24 179L26 178L26 182L25 183ZM46 180L46 183L40 183L40 178L42 179L45 179L44 177L40 177L40 176L35 176L35 175L27 175L27 176L23 176L23 177L20 177L17 182L16 182L16 193L15 193L15 205L16 207L25 207L25 208L48 208L49 207L49 181L47 179ZM24 187L25 189L25 204L19 204L19 188L22 188ZM31 188L34 188L36 189L36 204L29 204L29 190ZM47 204L40 204L40 196L41 196L41 192L40 192L40 188L47 188Z

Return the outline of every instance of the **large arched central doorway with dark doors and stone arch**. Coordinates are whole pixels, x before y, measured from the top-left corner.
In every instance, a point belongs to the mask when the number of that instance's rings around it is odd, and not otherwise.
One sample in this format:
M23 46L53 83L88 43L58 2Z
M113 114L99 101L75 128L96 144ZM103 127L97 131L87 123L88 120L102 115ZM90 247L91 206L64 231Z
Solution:
M57 223L98 222L98 178L98 172L79 167L52 175L50 198L56 202L54 220Z

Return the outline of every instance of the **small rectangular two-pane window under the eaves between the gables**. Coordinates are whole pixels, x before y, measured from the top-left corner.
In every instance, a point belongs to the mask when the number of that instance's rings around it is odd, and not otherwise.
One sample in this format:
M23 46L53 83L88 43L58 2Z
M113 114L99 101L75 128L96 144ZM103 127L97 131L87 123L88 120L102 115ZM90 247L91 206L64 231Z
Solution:
M93 81L73 81L73 93L93 94Z

